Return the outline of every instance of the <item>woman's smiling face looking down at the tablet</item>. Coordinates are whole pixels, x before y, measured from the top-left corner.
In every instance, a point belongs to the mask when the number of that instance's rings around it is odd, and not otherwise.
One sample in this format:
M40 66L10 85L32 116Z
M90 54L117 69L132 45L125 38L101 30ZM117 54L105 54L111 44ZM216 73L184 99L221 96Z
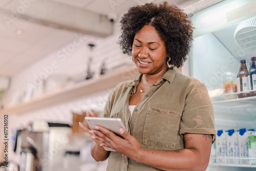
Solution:
M135 34L132 55L141 74L164 74L168 70L164 41L152 26L144 26Z

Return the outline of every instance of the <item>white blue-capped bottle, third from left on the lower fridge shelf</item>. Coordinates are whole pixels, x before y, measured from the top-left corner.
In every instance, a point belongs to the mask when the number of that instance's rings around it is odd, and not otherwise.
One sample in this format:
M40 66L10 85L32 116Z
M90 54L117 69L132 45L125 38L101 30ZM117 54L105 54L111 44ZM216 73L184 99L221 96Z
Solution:
M238 145L239 145L239 157L248 158L248 132L246 129L240 129L237 132L238 136ZM239 164L249 164L249 160L240 159Z

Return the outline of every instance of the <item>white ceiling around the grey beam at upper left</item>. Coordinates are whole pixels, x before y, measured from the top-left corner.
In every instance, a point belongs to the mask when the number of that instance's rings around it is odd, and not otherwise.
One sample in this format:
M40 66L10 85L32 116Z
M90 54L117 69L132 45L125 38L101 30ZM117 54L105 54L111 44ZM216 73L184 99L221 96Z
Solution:
M115 14L117 16L134 5L144 4L146 2L161 2L159 0L49 1L55 1L95 13L105 15ZM184 8L198 1L199 0L169 0L168 2ZM113 8L113 6L111 7L110 5L111 2L119 2L119 4L116 4ZM7 13L4 11L6 9L17 8L18 5L20 6L20 1L17 0L1 0L0 2L0 75L13 76L36 60L67 45L74 39L74 32L39 25L22 19L15 19L13 23L10 23L10 27L7 27L4 20ZM23 30L24 33L18 35L16 34L17 30Z

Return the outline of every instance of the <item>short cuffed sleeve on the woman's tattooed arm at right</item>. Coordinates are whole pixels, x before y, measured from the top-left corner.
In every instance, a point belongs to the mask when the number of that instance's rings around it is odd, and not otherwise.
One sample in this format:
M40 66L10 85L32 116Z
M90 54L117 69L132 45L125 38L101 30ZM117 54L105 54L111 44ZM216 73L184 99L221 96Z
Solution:
M196 84L186 94L181 116L180 135L211 134L212 143L216 140L214 107L203 83Z

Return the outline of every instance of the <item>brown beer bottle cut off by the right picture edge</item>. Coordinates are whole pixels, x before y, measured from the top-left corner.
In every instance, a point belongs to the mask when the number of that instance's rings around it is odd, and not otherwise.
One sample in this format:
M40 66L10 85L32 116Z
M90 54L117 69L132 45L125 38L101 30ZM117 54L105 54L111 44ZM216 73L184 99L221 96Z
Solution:
M250 96L256 96L256 56L251 56L251 65L248 72L249 90L255 90L250 92Z

